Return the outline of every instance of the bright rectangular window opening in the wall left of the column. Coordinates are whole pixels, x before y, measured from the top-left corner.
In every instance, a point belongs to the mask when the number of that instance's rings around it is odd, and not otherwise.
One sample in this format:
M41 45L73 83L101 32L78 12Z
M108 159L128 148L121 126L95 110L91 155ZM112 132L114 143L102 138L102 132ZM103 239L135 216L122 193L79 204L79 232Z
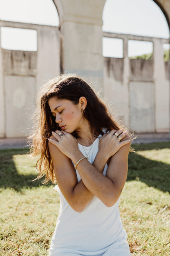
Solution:
M1 27L1 47L7 50L37 51L37 31Z

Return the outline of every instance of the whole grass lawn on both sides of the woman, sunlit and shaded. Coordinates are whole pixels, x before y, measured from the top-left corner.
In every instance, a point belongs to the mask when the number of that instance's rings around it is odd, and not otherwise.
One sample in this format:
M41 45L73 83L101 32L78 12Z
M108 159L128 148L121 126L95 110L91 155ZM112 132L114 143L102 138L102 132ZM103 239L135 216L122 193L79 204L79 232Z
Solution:
M170 255L170 142L134 146L120 201L132 256ZM32 182L28 150L0 151L0 255L47 256L59 212L54 185Z

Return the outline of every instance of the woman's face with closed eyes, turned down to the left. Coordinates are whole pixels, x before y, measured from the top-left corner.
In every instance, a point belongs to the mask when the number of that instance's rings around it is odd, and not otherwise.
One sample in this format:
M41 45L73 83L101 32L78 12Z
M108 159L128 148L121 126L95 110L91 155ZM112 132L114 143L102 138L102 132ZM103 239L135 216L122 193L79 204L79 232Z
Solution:
M72 133L81 126L84 119L81 112L81 103L75 105L72 101L52 97L48 101L51 113L56 118L62 130Z

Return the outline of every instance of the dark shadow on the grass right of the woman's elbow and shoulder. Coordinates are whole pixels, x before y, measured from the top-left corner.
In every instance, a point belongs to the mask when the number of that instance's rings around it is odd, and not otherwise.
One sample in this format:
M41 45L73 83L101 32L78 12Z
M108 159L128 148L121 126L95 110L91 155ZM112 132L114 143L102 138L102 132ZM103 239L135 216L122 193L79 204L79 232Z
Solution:
M133 148L136 153L129 154L127 181L139 180L149 187L170 193L170 165L137 154L137 151L170 149L170 142L139 144Z

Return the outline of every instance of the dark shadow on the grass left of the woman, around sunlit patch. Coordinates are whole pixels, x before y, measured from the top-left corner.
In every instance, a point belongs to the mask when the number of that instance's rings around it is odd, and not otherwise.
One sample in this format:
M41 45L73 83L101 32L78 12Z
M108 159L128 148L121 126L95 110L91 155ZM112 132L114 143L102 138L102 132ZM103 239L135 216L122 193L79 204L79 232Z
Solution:
M33 171L30 171L29 167L28 171L27 168L24 169L23 167L22 174L18 173L16 169L13 155L25 155L26 153L29 153L29 149L0 150L0 187L10 187L19 192L23 187L31 188L42 186L42 178L37 181L32 181L37 175L34 175ZM28 160L28 162L31 161L31 159ZM27 167L27 163L25 163L25 165ZM31 170L34 170L35 164L31 162L31 165ZM48 184L48 186L50 185L51 183Z

